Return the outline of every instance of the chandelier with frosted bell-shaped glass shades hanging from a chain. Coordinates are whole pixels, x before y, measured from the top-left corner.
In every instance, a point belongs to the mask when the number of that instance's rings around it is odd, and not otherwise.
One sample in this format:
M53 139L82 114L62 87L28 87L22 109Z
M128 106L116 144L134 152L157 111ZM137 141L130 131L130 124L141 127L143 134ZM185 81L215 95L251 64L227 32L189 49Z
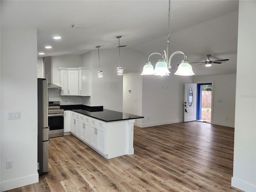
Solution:
M160 53L152 53L159 54L161 58L156 63L155 69L152 66L151 62L149 61L150 56L148 57L148 61L143 67L143 71L141 75L160 75L160 76L168 76L170 74L169 69L171 68L171 59L175 54L183 54L184 60L179 64L178 70L174 73L175 75L182 75L182 76L190 76L194 75L192 70L192 66L189 64L187 60L187 56L181 52L176 51L174 52L169 59L169 44L170 44L170 0L169 0L169 8L168 8L168 35L167 35L167 48L163 50L162 54Z

